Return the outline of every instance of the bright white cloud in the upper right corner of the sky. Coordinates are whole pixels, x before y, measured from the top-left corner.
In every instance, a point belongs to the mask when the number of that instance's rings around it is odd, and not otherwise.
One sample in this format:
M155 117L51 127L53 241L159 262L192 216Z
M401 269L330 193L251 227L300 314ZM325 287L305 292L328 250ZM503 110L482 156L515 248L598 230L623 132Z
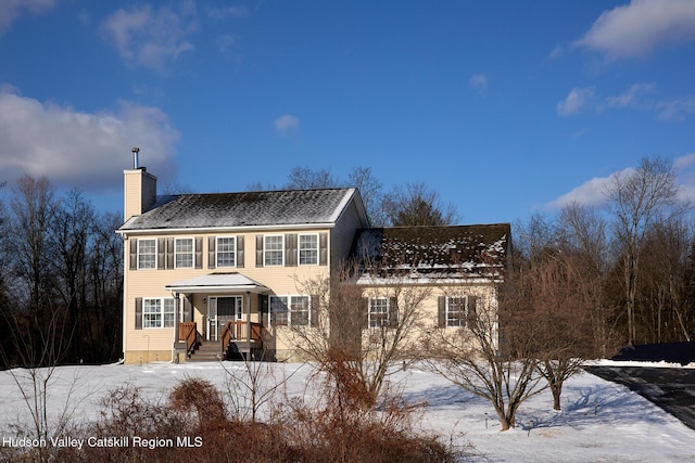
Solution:
M608 59L626 59L693 39L695 1L632 0L602 13L574 46L599 51Z

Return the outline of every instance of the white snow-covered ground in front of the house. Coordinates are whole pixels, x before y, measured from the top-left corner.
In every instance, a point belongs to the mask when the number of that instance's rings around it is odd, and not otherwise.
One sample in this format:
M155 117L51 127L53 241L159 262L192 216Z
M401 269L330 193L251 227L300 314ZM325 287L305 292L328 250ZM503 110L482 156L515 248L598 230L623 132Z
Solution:
M63 366L56 370L50 385L49 404L53 413L72 410L75 419L96 419L100 399L119 385L132 384L162 399L187 376L205 378L226 389L228 372L243 374L243 369L233 362L225 362L224 366L220 363ZM276 378L290 376L283 394L311 394L306 386L312 373L309 365L277 363L269 368ZM14 373L23 372L14 370ZM408 401L427 402L421 412L421 429L435 432L446 441L453 439L458 446L471 443L473 461L695 461L695 430L626 387L589 373L569 380L563 393L561 411L552 410L551 394L544 391L521 406L517 428L504 433L500 432L489 402L432 373L410 368L395 373L391 381L403 386ZM2 371L0 441L10 437L12 425L22 420L26 420L26 406L11 373Z

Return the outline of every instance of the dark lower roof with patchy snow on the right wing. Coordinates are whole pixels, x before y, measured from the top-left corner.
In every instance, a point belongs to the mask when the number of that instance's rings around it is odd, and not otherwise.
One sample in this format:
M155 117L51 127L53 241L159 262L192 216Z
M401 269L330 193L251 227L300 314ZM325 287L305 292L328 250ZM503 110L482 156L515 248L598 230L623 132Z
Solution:
M509 223L359 230L353 253L367 272L490 276L507 267Z

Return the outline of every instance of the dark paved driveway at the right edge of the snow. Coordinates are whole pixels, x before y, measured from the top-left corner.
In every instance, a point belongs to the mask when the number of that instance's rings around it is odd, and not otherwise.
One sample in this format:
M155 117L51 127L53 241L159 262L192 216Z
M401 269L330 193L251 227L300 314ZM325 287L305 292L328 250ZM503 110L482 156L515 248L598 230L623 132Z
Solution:
M627 386L695 429L694 369L602 365L585 370Z

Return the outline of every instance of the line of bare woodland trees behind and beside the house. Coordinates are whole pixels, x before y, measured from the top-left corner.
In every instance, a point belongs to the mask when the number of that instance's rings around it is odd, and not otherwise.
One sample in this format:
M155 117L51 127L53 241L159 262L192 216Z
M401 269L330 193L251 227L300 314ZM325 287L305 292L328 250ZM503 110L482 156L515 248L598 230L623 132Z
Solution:
M365 167L344 180L295 167L280 188L337 187L359 189L372 227L458 220L435 190L406 183L387 192ZM672 164L642 159L615 176L604 194L605 208L570 204L514 227L501 313L515 316L502 319L503 326L514 320L520 334L519 323L543 322L546 330L534 325L529 334L536 345L563 339L569 345L555 349L582 358L610 356L623 345L691 340L695 229ZM121 214L96 210L79 190L58 194L46 178L23 177L9 196L0 203L3 365L117 360L123 243L114 230Z

